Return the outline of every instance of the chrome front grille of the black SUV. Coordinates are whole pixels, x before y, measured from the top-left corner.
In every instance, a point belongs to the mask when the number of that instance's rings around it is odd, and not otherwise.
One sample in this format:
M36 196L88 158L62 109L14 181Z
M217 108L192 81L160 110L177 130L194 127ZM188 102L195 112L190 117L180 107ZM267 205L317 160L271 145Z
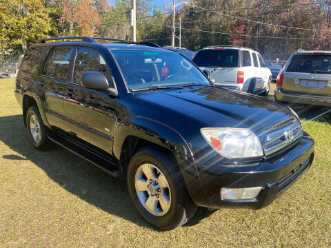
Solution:
M284 121L265 127L265 156L297 141L303 134L301 123L297 118L288 118Z

